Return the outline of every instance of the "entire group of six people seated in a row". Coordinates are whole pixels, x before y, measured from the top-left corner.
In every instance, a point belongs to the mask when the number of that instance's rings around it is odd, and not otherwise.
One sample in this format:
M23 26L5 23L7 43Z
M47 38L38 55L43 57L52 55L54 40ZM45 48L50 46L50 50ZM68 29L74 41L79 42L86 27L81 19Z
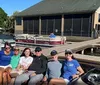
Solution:
M13 70L23 73L15 77L14 85L28 82L28 85L36 85L39 81L48 82L48 85L67 85L72 79L84 73L78 61L74 58L70 49L65 50L65 60L58 60L58 53L52 50L51 59L48 60L42 53L41 47L36 47L35 52L25 48L20 54L20 49L6 42L4 50L0 51L0 85L11 82Z

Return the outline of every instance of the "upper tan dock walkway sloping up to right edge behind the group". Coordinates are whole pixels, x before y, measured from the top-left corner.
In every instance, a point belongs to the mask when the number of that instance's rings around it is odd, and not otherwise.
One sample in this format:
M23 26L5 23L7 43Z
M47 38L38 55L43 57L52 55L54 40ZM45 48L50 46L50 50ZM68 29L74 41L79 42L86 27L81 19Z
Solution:
M73 50L73 52L77 52L77 51L92 47L93 44L98 44L98 43L100 43L100 38L88 40L88 41L83 41L83 42L72 43L72 44L59 45L56 47L44 49L43 53L46 56L50 56L50 52L52 50L57 50L58 53L60 54L60 53L63 53L66 49L71 49L71 50Z

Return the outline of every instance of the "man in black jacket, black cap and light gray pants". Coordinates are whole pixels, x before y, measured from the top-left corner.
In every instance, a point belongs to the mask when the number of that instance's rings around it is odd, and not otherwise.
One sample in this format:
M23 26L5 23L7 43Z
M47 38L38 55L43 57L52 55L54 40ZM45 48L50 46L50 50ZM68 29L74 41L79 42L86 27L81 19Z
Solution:
M42 54L42 48L36 47L32 64L27 72L16 77L15 85L21 85L27 80L29 80L28 85L36 85L37 82L43 79L46 69L47 58Z

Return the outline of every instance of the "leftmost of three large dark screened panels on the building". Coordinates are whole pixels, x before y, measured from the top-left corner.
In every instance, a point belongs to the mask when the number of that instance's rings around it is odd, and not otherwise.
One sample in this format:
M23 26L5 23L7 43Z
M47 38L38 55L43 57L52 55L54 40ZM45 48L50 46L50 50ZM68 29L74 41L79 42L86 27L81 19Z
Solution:
M39 17L23 17L23 33L39 34Z

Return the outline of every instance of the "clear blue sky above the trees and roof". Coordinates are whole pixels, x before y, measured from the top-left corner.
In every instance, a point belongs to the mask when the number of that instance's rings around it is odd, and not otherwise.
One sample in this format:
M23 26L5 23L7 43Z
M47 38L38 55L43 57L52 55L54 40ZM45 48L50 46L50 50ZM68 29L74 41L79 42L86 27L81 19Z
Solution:
M40 1L42 0L0 0L0 7L11 16L15 11L23 11Z

